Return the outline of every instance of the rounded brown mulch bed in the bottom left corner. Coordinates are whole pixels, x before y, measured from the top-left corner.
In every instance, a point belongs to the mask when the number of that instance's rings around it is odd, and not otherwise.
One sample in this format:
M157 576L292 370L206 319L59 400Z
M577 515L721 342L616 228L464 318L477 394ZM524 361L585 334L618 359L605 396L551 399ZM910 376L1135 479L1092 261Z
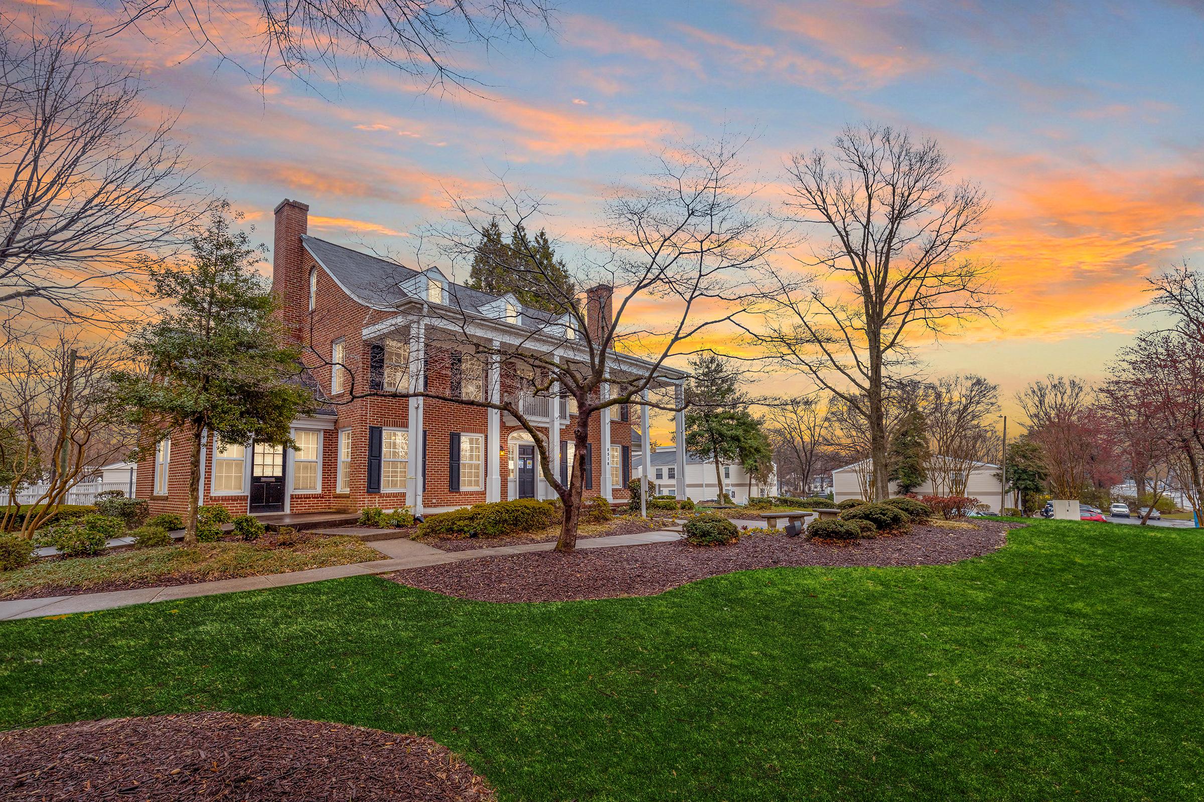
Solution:
M234 713L0 732L2 800L495 800L430 738Z

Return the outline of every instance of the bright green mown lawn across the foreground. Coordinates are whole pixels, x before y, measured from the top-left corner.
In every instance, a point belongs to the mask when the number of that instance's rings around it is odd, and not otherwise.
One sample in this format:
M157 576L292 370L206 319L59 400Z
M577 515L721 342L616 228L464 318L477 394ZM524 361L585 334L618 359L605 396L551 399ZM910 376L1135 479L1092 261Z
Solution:
M503 800L1199 800L1204 537L490 605L362 577L0 624L0 729L228 709L427 733Z

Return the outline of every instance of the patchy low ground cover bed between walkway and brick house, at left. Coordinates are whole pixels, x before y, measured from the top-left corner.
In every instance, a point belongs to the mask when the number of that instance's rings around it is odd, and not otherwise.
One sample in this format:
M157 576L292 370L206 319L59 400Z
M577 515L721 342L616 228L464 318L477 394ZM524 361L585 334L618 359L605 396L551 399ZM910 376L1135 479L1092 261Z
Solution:
M196 548L148 546L102 557L43 559L14 571L0 572L0 599L188 584L236 576L305 571L382 557L380 552L355 537L312 535L306 535L302 542L295 545L262 537L253 543L222 541L200 543Z

